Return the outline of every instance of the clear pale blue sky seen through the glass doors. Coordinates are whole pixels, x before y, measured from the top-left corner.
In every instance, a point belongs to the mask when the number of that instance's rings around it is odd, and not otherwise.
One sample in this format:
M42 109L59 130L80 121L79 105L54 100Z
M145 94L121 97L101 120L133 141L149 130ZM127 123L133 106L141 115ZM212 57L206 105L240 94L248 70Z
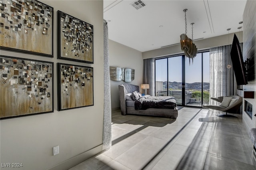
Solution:
M170 57L156 60L156 81L167 81L167 61L169 66L169 81L182 81L182 57ZM189 59L185 59L186 83L201 82L201 53L194 58L193 64L189 65ZM203 53L204 82L210 82L210 57L209 52Z

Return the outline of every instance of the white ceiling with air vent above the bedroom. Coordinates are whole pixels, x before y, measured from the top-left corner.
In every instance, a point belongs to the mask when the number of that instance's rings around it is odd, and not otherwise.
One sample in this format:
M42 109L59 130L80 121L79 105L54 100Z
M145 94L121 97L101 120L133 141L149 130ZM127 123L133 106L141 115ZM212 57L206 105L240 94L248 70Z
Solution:
M180 42L185 33L193 39L210 38L238 32L246 0L142 0L146 6L136 10L136 0L104 0L104 19L108 38L139 51L158 49ZM194 42L196 44L196 41Z

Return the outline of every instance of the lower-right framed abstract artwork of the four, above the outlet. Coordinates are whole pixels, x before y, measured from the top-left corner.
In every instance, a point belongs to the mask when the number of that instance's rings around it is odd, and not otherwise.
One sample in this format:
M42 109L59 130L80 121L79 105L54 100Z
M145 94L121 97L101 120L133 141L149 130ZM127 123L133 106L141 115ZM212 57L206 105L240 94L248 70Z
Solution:
M58 111L94 105L93 68L57 63Z

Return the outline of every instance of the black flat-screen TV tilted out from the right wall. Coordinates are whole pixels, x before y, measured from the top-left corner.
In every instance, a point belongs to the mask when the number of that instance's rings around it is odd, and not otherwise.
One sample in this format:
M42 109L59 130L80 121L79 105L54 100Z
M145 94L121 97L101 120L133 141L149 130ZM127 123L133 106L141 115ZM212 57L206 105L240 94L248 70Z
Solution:
M244 66L241 47L240 47L238 38L236 37L236 34L234 34L234 39L233 39L233 43L230 51L230 57L232 60L232 65L233 65L234 73L236 76L237 85L246 85L247 84L246 70Z

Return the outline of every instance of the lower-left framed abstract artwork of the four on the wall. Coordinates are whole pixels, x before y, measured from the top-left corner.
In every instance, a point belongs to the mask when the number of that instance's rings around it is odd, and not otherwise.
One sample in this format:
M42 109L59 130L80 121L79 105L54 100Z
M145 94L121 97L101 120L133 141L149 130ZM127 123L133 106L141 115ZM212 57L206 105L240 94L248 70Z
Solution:
M53 112L53 63L0 56L0 119Z

